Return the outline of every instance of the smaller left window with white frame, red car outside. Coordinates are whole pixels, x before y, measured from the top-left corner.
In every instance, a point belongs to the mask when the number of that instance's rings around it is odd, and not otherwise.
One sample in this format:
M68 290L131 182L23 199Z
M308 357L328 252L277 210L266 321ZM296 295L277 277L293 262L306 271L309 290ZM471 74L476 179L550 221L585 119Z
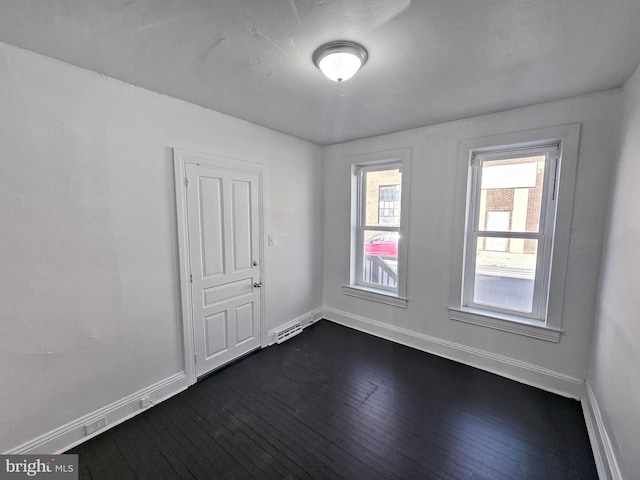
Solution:
M346 295L406 307L409 151L352 158L352 231Z

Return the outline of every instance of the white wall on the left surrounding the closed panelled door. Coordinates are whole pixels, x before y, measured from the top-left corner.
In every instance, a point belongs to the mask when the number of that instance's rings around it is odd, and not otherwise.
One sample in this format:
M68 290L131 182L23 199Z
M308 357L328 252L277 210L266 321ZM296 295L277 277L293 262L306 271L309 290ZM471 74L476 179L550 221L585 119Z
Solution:
M0 451L184 369L172 147L263 163L267 328L320 307L320 147L5 44L0 106Z

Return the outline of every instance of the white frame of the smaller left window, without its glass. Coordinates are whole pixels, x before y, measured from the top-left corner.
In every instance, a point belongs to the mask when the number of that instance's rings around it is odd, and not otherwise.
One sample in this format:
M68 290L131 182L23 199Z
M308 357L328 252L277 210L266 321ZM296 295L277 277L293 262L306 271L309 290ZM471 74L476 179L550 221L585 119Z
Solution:
M347 166L351 178L351 219L350 219L350 262L348 281L342 286L343 293L348 296L372 300L387 305L407 307L407 237L409 231L409 198L410 198L410 169L411 149L403 148L387 152L353 155L348 157ZM400 190L400 227L367 226L366 208L362 188L362 176L359 172L380 171L399 168L402 172ZM384 286L368 284L359 281L362 278L364 262L364 232L365 230L397 231L398 239L398 272L397 288L389 289Z

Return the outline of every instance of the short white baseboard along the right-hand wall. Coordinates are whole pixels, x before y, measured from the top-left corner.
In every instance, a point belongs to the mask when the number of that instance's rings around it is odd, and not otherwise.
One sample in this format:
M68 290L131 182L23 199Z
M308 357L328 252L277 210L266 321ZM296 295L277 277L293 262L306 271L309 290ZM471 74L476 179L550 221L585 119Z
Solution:
M598 476L600 480L622 480L611 439L604 426L600 406L589 381L586 382L586 390L587 395L582 398L582 410L587 424L587 431L589 432L593 458L598 469Z

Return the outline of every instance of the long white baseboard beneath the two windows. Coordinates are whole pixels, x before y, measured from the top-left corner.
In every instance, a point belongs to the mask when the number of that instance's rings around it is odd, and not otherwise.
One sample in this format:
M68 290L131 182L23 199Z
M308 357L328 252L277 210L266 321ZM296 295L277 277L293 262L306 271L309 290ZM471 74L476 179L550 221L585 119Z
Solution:
M580 378L331 307L323 308L323 316L340 325L464 363L526 385L565 397L575 399L584 397L585 382Z

